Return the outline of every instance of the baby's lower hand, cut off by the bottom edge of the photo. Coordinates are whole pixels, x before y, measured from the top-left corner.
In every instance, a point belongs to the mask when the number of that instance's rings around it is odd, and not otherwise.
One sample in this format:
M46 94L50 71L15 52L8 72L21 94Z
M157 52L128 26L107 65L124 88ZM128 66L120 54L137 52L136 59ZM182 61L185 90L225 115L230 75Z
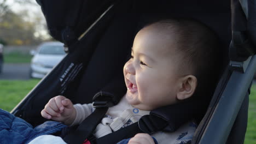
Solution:
M132 137L128 144L155 144L155 142L149 134L140 133Z

